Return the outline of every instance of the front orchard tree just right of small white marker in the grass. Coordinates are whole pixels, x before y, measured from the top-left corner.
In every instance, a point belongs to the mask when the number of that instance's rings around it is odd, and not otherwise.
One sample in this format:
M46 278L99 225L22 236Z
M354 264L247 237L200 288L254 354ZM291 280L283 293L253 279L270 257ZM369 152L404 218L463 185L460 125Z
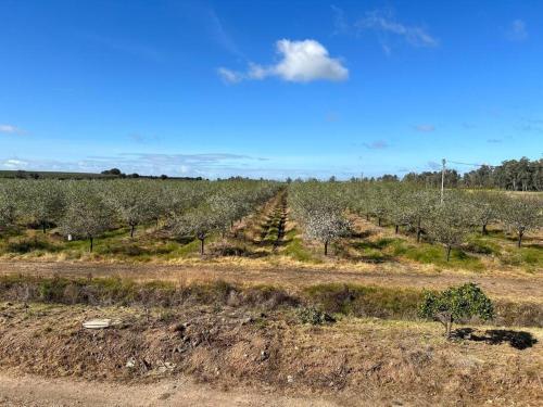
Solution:
M70 182L66 213L61 220L61 229L66 234L89 240L92 252L94 238L113 225L114 213L103 200L100 181Z

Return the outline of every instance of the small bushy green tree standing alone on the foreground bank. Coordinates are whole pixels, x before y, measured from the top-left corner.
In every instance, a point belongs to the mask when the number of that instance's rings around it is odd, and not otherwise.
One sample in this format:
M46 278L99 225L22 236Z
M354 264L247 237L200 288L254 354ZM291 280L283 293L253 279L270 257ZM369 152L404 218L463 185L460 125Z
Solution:
M454 321L471 317L489 320L494 316L494 308L482 290L470 282L442 292L426 292L419 316L439 320L445 327L445 335L450 338Z

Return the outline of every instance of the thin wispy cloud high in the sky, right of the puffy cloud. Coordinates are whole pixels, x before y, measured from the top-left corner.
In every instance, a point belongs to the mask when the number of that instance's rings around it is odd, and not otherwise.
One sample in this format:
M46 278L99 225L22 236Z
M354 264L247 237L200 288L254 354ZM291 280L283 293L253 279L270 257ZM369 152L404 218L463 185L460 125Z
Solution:
M371 29L383 35L400 36L414 47L433 48L439 46L439 40L424 27L399 23L393 20L391 13L380 10L366 13L366 16L358 20L355 26L358 30ZM383 49L390 52L388 46L383 46Z

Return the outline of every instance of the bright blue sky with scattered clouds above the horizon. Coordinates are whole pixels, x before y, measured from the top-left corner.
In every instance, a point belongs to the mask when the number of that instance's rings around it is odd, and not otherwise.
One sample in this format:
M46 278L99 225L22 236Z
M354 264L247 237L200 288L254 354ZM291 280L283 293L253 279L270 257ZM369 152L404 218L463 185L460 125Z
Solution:
M538 0L2 0L0 15L1 169L346 178L542 156Z

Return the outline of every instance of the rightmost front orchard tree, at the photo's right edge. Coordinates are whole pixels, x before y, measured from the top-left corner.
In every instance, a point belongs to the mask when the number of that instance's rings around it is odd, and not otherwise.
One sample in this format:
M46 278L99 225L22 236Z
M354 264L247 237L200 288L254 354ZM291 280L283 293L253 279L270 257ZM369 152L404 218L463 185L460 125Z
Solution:
M517 233L517 246L522 245L522 237L530 229L543 226L543 200L531 196L512 196L504 205L503 220Z

